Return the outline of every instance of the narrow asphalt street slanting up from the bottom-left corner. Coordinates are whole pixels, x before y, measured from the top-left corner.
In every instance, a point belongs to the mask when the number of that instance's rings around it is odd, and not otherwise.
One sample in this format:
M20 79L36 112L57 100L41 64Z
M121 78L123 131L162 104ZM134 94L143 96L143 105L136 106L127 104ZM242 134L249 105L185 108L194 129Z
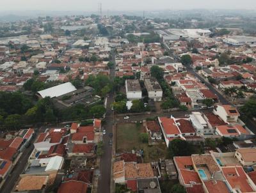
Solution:
M29 147L26 148L26 150L24 150L24 152L22 153L22 155L21 155L19 161L17 162L17 164L15 165L15 167L13 167L12 173L10 173L10 175L6 178L6 181L3 185L3 187L1 188L0 192L9 193L12 191L15 183L19 179L20 174L23 172L23 170L25 169L25 167L28 163L29 155L32 153L32 151L34 149L33 143L37 137L37 134L41 131L42 131L42 128L40 128L39 130L36 130L35 137L31 141Z

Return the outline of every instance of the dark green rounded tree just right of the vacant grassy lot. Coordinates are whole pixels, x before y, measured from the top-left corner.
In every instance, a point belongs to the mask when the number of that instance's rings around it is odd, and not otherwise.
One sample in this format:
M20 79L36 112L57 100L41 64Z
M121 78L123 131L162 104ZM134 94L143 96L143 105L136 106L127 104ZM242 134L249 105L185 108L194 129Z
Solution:
M188 142L182 139L173 139L170 141L168 151L171 157L191 155L191 148Z

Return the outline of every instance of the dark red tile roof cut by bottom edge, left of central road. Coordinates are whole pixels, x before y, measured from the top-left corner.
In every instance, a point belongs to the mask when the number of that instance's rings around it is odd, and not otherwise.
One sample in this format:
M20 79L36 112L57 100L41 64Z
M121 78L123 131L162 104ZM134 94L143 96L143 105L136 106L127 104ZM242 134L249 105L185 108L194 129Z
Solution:
M87 183L84 183L83 181L65 181L61 183L58 193L86 193L87 187Z

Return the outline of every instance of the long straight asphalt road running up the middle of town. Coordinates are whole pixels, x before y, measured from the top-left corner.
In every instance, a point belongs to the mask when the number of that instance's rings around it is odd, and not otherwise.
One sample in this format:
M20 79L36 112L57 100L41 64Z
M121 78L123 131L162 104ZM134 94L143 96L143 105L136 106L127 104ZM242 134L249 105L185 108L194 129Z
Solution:
M111 61L115 63L115 54L111 54ZM115 66L110 71L110 79L115 77ZM103 155L100 158L100 178L98 183L98 192L109 193L111 183L111 159L112 159L112 146L109 146L109 141L112 138L109 137L109 133L113 133L113 111L111 110L111 104L114 102L114 92L109 93L107 107L106 107L106 123L103 125L106 130L106 134L103 135ZM113 142L112 142L113 143Z

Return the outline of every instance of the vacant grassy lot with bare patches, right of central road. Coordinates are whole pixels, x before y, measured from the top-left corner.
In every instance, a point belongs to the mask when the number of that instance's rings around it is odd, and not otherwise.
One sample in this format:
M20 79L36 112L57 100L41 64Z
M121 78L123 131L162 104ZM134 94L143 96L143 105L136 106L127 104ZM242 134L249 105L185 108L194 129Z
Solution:
M138 123L122 123L116 127L116 153L131 153L132 150L144 151L144 162L156 161L167 155L165 144L148 146L141 143L139 135L145 132Z

